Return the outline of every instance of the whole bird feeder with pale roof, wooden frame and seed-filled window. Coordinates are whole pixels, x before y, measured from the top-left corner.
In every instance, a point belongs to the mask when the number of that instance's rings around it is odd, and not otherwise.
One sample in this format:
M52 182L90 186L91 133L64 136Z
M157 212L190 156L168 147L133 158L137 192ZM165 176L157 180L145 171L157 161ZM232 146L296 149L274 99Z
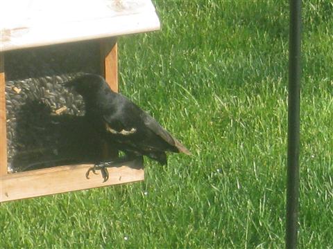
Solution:
M90 129L82 97L62 83L96 73L118 91L117 37L160 28L151 1L13 0L1 13L0 202L143 181L137 161L108 168L105 183L85 177L118 151Z

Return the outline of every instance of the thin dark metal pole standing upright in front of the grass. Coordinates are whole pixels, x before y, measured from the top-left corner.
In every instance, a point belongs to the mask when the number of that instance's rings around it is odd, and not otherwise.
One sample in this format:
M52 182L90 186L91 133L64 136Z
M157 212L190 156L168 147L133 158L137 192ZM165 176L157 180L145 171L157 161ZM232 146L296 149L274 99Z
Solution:
M300 151L300 34L301 0L289 0L289 96L287 158L286 248L297 246Z

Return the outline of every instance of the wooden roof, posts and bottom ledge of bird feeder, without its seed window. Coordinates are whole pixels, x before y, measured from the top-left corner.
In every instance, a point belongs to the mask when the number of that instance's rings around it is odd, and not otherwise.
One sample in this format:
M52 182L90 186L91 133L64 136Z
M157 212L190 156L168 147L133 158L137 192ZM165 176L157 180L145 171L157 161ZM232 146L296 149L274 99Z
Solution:
M105 183L101 174L85 177L92 164L8 172L5 59L10 50L94 40L100 46L101 73L118 91L117 37L160 28L151 0L11 0L0 5L0 202L143 181L143 165L135 161L109 168Z

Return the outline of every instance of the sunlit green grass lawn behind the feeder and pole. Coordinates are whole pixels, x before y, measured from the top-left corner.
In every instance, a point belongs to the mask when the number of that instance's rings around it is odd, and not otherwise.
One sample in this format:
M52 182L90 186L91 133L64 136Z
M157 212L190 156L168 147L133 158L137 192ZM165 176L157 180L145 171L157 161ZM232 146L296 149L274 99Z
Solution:
M119 42L121 92L193 156L146 160L142 183L4 203L0 248L284 247L287 2L155 6L162 30ZM332 9L302 12L300 248L332 248Z

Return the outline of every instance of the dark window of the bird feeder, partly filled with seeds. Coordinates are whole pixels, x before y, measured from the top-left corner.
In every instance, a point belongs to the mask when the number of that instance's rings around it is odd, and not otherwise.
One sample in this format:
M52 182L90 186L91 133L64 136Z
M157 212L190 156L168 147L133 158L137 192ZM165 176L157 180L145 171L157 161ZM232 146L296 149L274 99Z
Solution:
M101 141L83 118L80 95L62 86L99 73L99 46L81 42L5 54L8 171L101 157Z

